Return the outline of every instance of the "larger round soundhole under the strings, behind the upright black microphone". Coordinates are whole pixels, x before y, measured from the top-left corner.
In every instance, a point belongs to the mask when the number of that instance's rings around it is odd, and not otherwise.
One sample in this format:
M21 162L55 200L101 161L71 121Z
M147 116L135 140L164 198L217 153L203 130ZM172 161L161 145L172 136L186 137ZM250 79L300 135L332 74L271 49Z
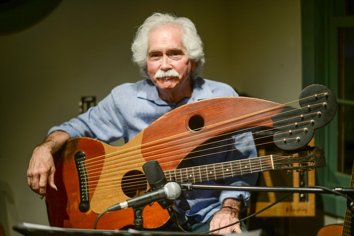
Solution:
M148 182L144 173L139 170L131 170L122 178L122 191L127 197L142 194L148 188Z

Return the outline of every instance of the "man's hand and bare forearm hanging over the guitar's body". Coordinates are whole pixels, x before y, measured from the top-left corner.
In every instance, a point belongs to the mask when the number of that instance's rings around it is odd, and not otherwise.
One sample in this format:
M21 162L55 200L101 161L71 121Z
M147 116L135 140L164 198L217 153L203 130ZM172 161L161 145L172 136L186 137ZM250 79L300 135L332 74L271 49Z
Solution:
M52 153L58 151L69 138L68 133L56 131L33 150L27 170L27 183L41 199L45 196L47 183L58 190L54 184L55 166Z

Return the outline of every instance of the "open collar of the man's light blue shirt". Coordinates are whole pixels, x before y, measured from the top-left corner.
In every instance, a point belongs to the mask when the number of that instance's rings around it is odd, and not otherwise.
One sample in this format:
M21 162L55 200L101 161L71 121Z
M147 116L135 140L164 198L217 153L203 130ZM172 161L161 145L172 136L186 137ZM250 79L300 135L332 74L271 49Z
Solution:
M140 90L137 94L137 97L141 99L146 99L152 101L158 105L176 105L175 102L167 102L162 100L159 97L159 91L156 86L151 82L150 79L145 80L145 85L142 90ZM213 94L207 84L205 84L205 80L198 77L193 80L193 101L199 101L202 99L207 99L213 97Z

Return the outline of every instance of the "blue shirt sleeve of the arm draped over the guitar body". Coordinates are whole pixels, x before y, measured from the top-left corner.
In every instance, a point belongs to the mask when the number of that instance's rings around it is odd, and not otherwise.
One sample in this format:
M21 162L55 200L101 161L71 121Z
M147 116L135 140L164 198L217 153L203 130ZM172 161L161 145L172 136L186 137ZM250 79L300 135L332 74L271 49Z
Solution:
M107 143L126 136L124 119L112 93L77 118L52 127L48 135L57 130L67 132L72 138L91 137Z

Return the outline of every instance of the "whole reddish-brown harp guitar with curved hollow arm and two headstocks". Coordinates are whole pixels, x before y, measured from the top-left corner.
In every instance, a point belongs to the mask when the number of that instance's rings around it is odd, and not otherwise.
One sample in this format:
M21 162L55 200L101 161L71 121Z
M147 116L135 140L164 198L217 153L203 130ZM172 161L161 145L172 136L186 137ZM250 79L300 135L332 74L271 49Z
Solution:
M324 167L323 148L305 147L314 130L329 123L336 98L325 86L311 85L299 97L300 108L248 97L217 97L174 109L150 124L121 147L90 138L70 139L55 155L55 183L47 187L51 226L93 229L98 214L148 189L142 165L158 160L168 180L204 182L273 169ZM251 128L274 130L274 144L283 153L225 163L177 169L185 158L225 134ZM143 210L143 226L154 229L169 219L167 210L152 204ZM130 208L104 214L97 229L133 225Z

